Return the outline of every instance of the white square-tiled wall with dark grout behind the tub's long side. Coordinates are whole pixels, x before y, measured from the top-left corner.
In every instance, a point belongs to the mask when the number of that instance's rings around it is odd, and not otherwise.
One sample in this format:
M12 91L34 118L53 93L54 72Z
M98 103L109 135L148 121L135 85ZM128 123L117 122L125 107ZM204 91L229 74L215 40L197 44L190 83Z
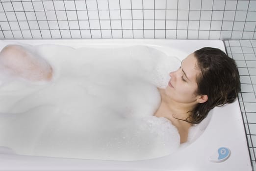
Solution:
M256 39L255 16L256 0L1 0L0 39Z

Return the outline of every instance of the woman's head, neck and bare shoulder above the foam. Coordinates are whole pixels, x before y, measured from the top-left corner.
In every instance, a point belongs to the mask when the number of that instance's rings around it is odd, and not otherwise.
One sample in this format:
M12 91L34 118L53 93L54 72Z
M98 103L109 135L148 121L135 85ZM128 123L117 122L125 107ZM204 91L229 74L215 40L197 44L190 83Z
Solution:
M200 123L212 108L232 103L240 91L235 61L216 48L190 54L170 77L167 87L159 90L162 102L155 116L178 128L180 143L187 141L192 124Z

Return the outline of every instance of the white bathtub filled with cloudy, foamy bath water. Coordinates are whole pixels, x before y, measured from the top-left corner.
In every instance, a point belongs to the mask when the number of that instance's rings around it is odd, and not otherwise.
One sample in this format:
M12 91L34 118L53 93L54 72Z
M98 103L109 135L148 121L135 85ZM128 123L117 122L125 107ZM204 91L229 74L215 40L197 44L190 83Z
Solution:
M0 49L7 44L26 44L53 79L1 76L0 170L251 170L237 100L211 110L181 146L177 129L154 117L169 72L201 47L225 51L222 41L3 40ZM211 162L219 147L229 158Z

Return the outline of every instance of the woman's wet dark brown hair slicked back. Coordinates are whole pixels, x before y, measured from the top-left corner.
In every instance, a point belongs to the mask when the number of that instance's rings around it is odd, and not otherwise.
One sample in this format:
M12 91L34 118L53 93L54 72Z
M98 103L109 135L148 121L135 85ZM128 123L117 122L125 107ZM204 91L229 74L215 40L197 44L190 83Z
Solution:
M199 103L187 118L192 124L200 123L208 112L216 107L232 103L240 91L240 77L233 59L222 50L204 47L194 52L202 74L197 77L197 94L207 95L205 103Z

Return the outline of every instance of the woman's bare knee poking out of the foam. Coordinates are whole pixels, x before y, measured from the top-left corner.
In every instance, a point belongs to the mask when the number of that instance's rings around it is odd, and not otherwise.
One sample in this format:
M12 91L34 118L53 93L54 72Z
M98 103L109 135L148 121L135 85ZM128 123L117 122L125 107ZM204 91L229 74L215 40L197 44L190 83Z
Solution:
M0 72L30 81L50 81L51 65L20 45L7 45L0 51Z

